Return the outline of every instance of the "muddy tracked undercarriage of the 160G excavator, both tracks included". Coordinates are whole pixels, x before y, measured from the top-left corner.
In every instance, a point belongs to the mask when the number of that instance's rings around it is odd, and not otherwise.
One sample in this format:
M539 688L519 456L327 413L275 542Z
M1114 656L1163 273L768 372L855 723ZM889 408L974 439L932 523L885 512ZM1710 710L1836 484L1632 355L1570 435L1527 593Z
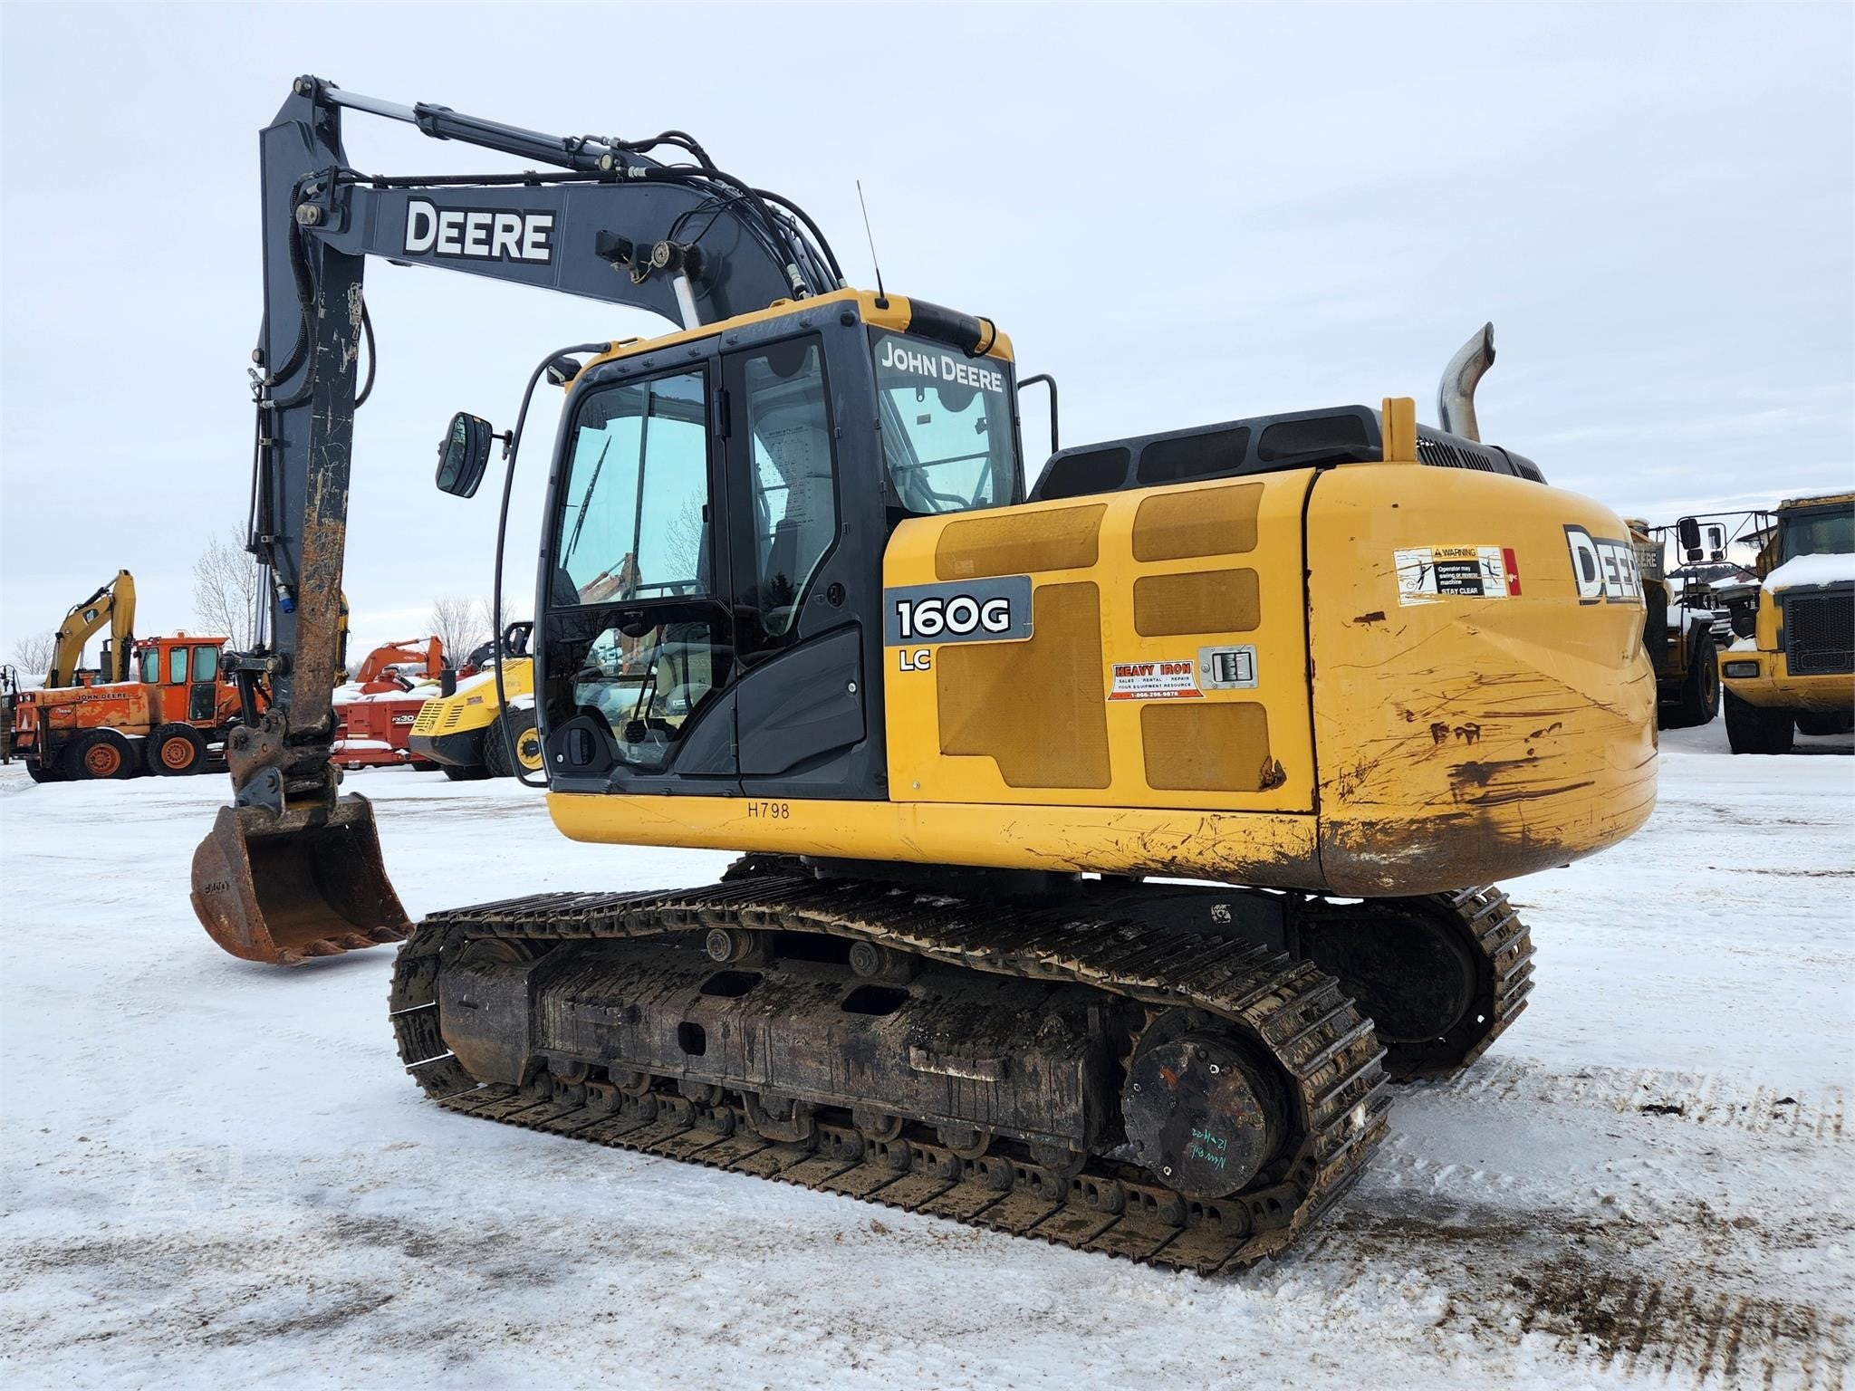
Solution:
M1286 1248L1384 1137L1388 1079L1473 1061L1530 976L1497 890L850 868L434 914L401 1057L466 1115L1209 1272Z

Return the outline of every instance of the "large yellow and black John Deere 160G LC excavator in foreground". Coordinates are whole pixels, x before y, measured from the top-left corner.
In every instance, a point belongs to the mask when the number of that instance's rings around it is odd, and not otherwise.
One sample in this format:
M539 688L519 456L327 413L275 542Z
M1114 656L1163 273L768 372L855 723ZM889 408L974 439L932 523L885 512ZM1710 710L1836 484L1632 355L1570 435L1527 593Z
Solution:
M356 111L531 169L367 174ZM1410 399L1226 419L1061 449L1028 486L1005 334L848 287L798 204L683 132L301 78L262 152L271 636L237 668L271 703L228 740L193 903L254 961L410 931L391 1029L436 1105L1239 1267L1349 1189L1389 1079L1467 1066L1523 1009L1532 944L1490 881L1649 816L1631 536L1480 441L1490 330L1441 428ZM549 352L506 434L454 415L438 486L473 495L501 440L506 519L532 393L564 388L547 809L575 840L740 851L720 881L406 920L328 764L367 256L677 325Z

